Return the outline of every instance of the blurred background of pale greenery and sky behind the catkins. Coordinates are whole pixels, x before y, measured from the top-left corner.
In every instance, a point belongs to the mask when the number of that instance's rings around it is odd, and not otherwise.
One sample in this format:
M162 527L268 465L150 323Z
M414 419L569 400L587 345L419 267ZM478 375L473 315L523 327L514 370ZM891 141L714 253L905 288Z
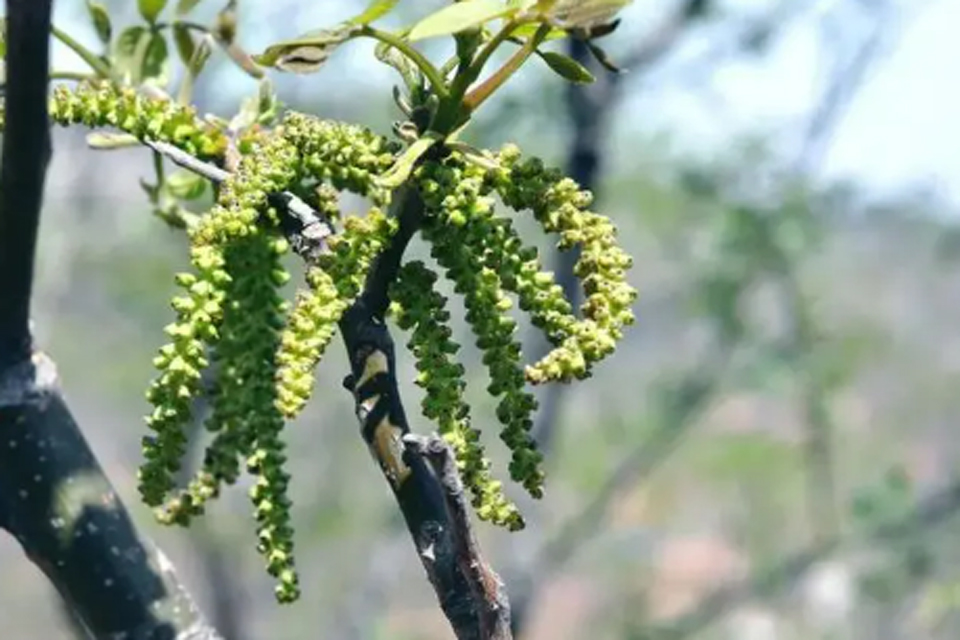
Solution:
M118 28L134 20L133 4L107 4ZM240 38L260 50L355 4L245 0ZM393 19L440 4L401 3ZM606 45L629 73L595 69L597 83L566 87L530 65L481 112L473 140L521 139L595 191L637 257L641 291L618 356L541 396L551 482L544 501L521 500L527 530L479 528L518 638L960 633L960 165L941 151L960 140L946 107L923 111L918 93L949 84L949 56L906 51L938 33L945 44L937 25L958 11L955 0L639 2ZM90 29L79 2L59 3L55 22ZM280 95L387 130L392 78L369 54L337 52L322 78L278 76ZM249 84L215 64L197 101L235 110ZM901 85L890 89L891 76ZM142 389L185 249L145 215L146 152L92 155L83 132L55 135L38 330L137 505ZM939 175L925 184L918 166ZM557 258L561 278L570 268ZM479 372L476 352L466 357ZM242 495L224 496L189 536L150 530L228 638L449 636L385 485L371 476L347 494L328 481L369 465L351 430L325 429L315 446L312 430L352 419L342 358L331 350L287 432L310 579L300 603L275 606ZM15 544L0 539L0 553L10 637L75 637Z

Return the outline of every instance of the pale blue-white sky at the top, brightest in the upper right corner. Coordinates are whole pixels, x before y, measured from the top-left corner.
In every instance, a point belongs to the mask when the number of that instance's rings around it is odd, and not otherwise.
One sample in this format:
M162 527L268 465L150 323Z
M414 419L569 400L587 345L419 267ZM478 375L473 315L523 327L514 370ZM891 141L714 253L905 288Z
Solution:
M903 19L897 25L899 33L892 41L891 52L873 68L838 128L825 159L825 173L828 177L855 178L878 194L922 185L960 204L960 83L953 81L956 72L949 68L960 60L960 37L956 34L960 0L900 2L904 7ZM58 7L61 24L74 22L71 18L85 19L77 7L64 4ZM251 7L250 11L262 11L254 9L253 4L246 5ZM670 4L640 0L625 17L650 19ZM725 4L761 10L772 2L727 0ZM925 5L923 10L910 17L920 4ZM731 136L748 131L774 135L795 132L798 118L808 113L815 99L816 79L821 71L818 65L823 62L818 54L818 35L812 26L818 23L816 14L828 13L835 6L836 0L818 2L815 15L793 28L762 64L724 65L713 78L713 91L722 100L704 99L704 92L691 91L686 86L672 92L654 92L655 102L650 104L649 92L641 91L636 100L628 103L623 120L641 121L652 128L666 127L675 132L678 143L694 151L716 149L717 145L727 144ZM336 11L332 11L334 8ZM314 5L312 9L311 14L327 14L327 21L333 19L332 13L341 13L344 6L331 2L319 8ZM294 23L304 20L302 15L291 18ZM849 20L844 24L848 23ZM318 25L307 24L305 28L312 26ZM247 31L246 35L245 40L257 41L248 43L253 49L266 44L259 42L265 35L263 31ZM697 44L691 42L690 50L696 50ZM357 56L351 60L352 66L363 53L351 51L344 55ZM59 47L55 60L60 68L77 67ZM377 72L364 75L372 81L381 79ZM729 108L721 108L722 104ZM634 113L643 117L631 115Z

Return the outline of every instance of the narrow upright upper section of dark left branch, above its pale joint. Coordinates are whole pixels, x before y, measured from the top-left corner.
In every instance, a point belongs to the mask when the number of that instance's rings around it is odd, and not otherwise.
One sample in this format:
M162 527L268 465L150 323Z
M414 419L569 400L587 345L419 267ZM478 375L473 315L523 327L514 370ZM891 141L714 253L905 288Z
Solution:
M0 168L0 366L30 358L33 261L50 162L52 0L7 0L6 126Z

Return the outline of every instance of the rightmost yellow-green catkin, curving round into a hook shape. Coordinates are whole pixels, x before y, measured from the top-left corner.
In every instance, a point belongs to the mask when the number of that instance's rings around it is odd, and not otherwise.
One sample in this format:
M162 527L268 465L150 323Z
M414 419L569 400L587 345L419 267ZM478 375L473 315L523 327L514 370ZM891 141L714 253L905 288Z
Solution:
M624 327L633 324L637 292L626 280L631 258L617 244L613 223L588 210L591 195L576 182L544 168L537 158L521 160L513 145L504 147L497 159L500 168L488 171L487 188L509 207L531 210L545 231L560 235L560 249L581 247L574 273L586 296L582 319L557 331L562 342L527 367L527 379L541 384L586 378L594 363L613 352Z

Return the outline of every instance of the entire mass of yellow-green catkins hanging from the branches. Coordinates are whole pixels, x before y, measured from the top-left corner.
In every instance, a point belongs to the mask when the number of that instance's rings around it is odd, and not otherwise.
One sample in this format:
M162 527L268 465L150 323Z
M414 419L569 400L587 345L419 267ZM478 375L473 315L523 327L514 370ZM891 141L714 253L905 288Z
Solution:
M110 126L211 162L221 161L228 145L225 134L198 119L192 108L107 83L58 87L50 114L62 125ZM215 206L187 230L193 269L176 276L182 290L172 303L176 318L166 327L169 343L155 359L159 374L147 393L152 433L143 441L140 492L161 521L185 525L245 468L255 477L250 497L258 549L279 580L277 598L289 602L299 588L281 429L309 400L314 369L338 321L396 230L397 221L385 212L391 194L378 179L399 149L363 128L291 112L273 130L241 136L238 150L239 164L219 186ZM464 297L466 319L489 372L487 389L499 398L496 415L512 451L510 475L539 497L541 456L530 437L536 402L526 383L588 376L633 321L636 293L625 280L630 259L616 244L610 221L588 210L588 193L538 160L523 160L516 147L504 148L495 164L473 164L452 151L431 155L404 188L419 191L422 235ZM284 191L304 194L340 226L328 238L327 251L307 265L306 287L292 304L280 293L290 277L282 263L290 251L281 225L285 213L271 208L268 197ZM373 207L364 216L341 217L341 191L364 196ZM512 209L531 211L545 231L559 234L561 247L580 246L576 273L586 295L580 314L511 220L495 214L495 196ZM517 508L491 477L479 432L470 423L466 372L454 359L459 345L451 339L450 314L436 280L427 265L410 262L390 289L391 313L410 331L423 414L436 421L454 450L479 517L522 528ZM509 294L554 345L526 367ZM210 398L205 426L212 441L195 477L177 487L186 427L201 395Z

